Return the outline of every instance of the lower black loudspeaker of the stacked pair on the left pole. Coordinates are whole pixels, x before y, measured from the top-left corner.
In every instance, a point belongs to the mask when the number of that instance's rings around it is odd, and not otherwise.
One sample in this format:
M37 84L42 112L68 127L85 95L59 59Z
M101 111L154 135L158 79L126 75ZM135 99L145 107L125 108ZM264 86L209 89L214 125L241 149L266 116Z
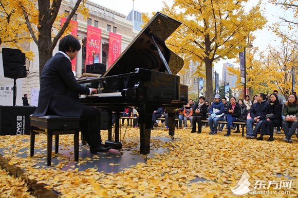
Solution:
M4 63L3 62L4 77L22 78L26 77L26 66L20 63ZM25 76L24 76L25 74Z

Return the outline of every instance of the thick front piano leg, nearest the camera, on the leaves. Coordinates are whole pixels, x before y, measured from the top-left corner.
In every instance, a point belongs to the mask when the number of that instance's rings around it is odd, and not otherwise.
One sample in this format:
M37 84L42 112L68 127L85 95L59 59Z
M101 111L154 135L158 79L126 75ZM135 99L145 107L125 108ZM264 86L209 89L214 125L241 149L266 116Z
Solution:
M155 107L145 107L145 111L138 109L139 122L140 122L140 153L150 153L150 138L151 138L151 124L152 124L152 113Z

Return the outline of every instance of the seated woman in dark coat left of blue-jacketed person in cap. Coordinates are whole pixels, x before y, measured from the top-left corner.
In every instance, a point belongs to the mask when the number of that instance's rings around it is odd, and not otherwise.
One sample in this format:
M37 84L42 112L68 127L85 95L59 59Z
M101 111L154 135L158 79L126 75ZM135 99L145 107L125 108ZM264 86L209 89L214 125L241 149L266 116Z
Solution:
M193 130L191 133L196 132L197 123L198 123L198 132L201 133L202 131L202 123L201 120L207 120L207 112L208 112L208 106L204 103L205 97L200 96L199 97L199 103L195 107L195 115L193 117Z

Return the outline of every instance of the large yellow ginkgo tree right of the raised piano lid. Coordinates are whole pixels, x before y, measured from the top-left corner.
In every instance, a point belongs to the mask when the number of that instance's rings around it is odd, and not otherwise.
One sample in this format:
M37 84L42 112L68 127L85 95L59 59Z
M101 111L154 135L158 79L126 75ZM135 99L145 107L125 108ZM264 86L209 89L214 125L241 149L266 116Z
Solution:
M260 9L260 2L246 11L247 2L174 0L172 5L164 3L162 8L162 13L182 22L182 26L167 39L167 46L181 55L185 62L203 62L209 101L213 100L213 63L220 59L234 58L239 52L239 46L246 45L248 34L262 29L267 22Z

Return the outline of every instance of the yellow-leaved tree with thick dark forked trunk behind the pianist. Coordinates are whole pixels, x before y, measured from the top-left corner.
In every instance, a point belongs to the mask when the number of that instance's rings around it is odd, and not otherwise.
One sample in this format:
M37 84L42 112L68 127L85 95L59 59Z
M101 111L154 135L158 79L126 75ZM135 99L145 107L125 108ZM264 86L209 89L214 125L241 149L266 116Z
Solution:
M88 16L88 9L85 7L86 1L73 0L74 6L69 5L71 12L66 16L65 13L59 14L62 0L0 0L0 4L5 5L2 7L2 13L5 15L4 8L9 10L7 13L18 18L20 23L17 24L16 20L14 21L15 25L10 26L10 37L22 37L22 35L28 37L29 35L36 44L39 51L40 75L45 63L52 57L52 51L67 29L74 13L78 11L84 17ZM67 2L64 3L67 4ZM67 17L62 28L60 28L61 17ZM0 23L0 29L5 29L5 25L6 23ZM18 32L20 30L17 30L20 28L23 30L21 33Z

